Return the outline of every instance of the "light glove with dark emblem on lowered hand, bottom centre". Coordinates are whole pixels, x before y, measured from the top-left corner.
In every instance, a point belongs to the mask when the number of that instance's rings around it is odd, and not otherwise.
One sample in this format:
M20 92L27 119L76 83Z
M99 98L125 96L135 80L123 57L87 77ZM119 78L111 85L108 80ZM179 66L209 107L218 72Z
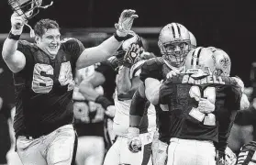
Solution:
M139 128L137 127L128 128L128 149L133 153L137 153L141 150Z

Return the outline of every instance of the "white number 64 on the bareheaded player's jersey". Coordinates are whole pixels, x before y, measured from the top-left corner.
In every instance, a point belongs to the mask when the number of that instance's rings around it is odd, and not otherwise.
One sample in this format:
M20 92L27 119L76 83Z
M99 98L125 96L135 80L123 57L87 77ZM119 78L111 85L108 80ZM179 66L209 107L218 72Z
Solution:
M41 75L45 72L46 75L53 75L54 70L51 65L37 63L33 71L32 90L35 93L49 93L53 86L53 80L50 77ZM62 86L68 84L68 91L74 87L72 79L72 68L69 61L61 63L61 70L59 74L59 82Z

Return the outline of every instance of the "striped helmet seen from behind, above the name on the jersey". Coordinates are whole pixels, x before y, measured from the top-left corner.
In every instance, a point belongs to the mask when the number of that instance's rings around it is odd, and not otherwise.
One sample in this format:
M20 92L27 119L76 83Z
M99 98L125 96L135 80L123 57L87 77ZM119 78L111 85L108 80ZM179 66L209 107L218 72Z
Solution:
M209 49L198 47L192 49L185 60L186 73L209 75L216 71L213 52Z

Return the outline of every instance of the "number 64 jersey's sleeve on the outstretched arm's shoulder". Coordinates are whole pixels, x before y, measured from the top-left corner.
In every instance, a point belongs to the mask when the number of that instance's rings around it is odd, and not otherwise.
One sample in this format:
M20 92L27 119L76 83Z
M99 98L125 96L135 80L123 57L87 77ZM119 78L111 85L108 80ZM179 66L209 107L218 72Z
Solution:
M63 38L61 40L61 44L63 45L63 49L71 54L71 62L75 65L76 61L85 49L83 47L83 43L76 38Z

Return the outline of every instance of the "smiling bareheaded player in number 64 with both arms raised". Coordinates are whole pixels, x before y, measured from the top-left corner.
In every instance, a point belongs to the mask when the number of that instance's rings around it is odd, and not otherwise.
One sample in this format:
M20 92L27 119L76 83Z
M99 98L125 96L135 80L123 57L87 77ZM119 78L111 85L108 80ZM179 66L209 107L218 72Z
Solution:
M122 41L129 38L136 17L134 10L124 10L113 37L84 49L78 39L61 40L58 23L50 19L36 23L35 43L19 40L28 20L17 12L12 15L12 28L2 56L14 72L17 106L14 128L17 153L24 165L74 162L77 144L72 126L74 71L112 56Z

